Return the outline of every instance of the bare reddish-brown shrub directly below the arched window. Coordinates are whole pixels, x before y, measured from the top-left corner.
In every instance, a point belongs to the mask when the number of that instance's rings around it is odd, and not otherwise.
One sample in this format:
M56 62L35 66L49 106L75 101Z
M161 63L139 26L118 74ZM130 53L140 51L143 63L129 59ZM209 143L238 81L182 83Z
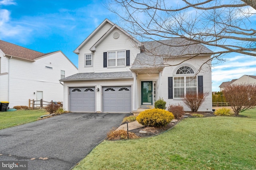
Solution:
M209 93L186 94L182 99L192 112L197 112Z

